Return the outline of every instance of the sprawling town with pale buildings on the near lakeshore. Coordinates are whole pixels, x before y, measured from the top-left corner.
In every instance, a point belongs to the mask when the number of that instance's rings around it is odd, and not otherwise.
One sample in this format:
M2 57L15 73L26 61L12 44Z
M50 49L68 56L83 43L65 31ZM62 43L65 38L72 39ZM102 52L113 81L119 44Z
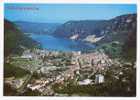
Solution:
M118 67L113 68L115 72L112 74L116 80L119 80L124 69L122 66L124 64L119 59L111 59L103 50L81 53L80 51L27 49L21 56L9 57L7 63L28 71L28 74L20 78L5 78L4 82L14 88L18 94L37 91L40 95L48 96L66 95L57 93L54 89L56 85L61 90L63 86L66 87L71 82L78 86L104 84L107 78L106 72L112 69L113 65L119 66L119 70L116 70ZM132 66L129 62L125 62L125 65Z

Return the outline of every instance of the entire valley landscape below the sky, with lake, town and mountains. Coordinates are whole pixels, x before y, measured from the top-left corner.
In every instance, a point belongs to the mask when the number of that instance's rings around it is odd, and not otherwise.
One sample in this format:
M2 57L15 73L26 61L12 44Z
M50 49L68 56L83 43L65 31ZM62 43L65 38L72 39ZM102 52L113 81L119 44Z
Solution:
M136 96L136 26L136 14L54 26L5 19L4 95Z

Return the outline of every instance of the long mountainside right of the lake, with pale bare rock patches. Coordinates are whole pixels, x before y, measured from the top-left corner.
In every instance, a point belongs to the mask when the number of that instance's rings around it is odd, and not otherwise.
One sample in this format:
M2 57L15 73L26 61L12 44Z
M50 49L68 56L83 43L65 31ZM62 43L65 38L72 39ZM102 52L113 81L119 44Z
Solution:
M110 57L136 60L137 15L126 14L110 20L68 21L58 27L55 36L96 45ZM93 52L92 50L90 52Z

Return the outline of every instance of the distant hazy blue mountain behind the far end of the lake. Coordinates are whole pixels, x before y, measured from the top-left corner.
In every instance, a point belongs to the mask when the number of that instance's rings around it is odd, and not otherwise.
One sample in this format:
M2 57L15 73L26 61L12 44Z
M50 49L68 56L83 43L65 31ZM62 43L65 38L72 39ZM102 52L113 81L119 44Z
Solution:
M15 24L24 33L51 34L60 25L59 23L35 23L16 21Z

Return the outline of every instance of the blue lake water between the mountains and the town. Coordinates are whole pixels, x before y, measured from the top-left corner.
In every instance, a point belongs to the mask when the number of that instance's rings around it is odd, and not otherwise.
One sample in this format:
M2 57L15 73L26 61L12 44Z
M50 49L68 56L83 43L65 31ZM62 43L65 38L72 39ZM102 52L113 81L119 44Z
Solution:
M86 51L94 49L95 45L74 41L70 39L58 38L51 35L30 34L30 37L39 42L44 49L57 51Z

